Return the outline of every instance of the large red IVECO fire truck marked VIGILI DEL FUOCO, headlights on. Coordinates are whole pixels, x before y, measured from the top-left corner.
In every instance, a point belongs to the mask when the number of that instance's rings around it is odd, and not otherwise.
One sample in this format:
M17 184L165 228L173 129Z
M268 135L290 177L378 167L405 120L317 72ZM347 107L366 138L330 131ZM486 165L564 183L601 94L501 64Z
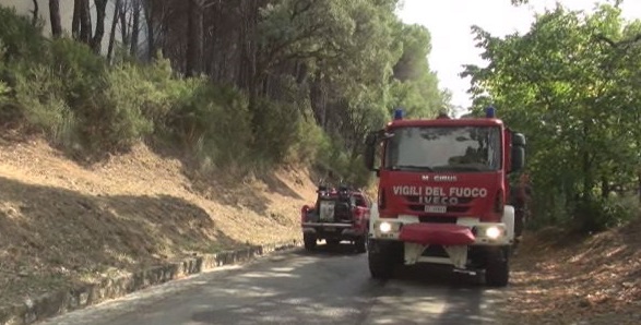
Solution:
M368 135L365 160L379 177L368 239L373 278L391 277L396 265L431 263L508 285L514 241L508 174L523 168L525 136L492 107L477 119L403 119L397 109Z

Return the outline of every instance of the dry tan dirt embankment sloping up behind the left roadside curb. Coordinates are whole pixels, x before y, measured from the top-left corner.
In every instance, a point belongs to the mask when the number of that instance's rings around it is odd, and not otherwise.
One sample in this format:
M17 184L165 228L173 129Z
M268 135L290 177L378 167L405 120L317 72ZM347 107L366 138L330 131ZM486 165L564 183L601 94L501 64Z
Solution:
M300 239L307 171L194 183L144 145L81 167L0 137L0 306L195 253ZM197 190L198 189L198 190Z

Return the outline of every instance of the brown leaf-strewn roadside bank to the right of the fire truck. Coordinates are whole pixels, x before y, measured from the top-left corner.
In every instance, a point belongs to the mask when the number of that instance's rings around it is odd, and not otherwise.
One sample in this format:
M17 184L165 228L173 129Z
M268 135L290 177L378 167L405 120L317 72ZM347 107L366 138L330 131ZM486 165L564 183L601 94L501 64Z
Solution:
M641 324L640 249L641 220L592 237L529 234L505 324Z

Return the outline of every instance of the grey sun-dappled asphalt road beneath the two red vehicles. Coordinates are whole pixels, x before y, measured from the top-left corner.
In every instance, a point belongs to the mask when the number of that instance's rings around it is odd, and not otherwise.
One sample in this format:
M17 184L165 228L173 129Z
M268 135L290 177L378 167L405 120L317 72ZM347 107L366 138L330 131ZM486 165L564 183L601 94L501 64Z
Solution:
M371 279L349 245L272 254L149 288L39 325L497 324L501 289L443 269Z

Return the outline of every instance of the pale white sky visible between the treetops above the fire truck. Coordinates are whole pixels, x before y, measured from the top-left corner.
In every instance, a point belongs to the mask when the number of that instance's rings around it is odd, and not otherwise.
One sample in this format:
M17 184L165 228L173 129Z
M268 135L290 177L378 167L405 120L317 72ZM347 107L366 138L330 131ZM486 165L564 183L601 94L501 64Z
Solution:
M518 31L525 33L534 13L554 8L554 0L531 0L529 5L513 7L510 0L404 0L399 12L405 23L426 26L431 34L429 65L438 73L440 87L453 93L453 104L468 107L465 93L470 81L459 77L462 64L484 64L480 50L474 47L470 26L478 25L495 36ZM595 0L559 0L572 10L592 11ZM598 1L601 3L608 1ZM612 2L610 2L612 3ZM627 19L641 19L641 1L625 0L621 5Z

